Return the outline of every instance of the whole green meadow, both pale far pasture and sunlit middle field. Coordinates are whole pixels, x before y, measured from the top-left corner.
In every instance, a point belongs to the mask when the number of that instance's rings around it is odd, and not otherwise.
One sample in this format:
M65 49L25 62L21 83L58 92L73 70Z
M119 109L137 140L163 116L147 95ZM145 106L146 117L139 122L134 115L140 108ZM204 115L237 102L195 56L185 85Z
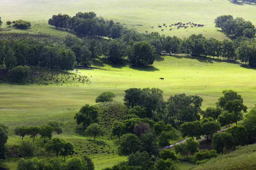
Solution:
M94 11L98 16L120 22L125 27L141 33L145 33L146 30L148 33L157 31L160 34L176 35L180 38L191 34L203 34L207 38L227 39L227 36L213 23L220 15L243 17L256 25L255 5L238 5L229 0L4 0L1 2L0 11L3 21L0 33L45 33L58 37L72 33L48 25L48 19L53 14L74 16L77 12L88 11ZM31 28L19 30L5 24L6 21L19 19L30 21ZM205 24L205 27L189 27L188 31L186 29L169 31L169 25L180 21ZM163 23L166 23L167 28L162 28L164 31L161 31L157 26L163 26ZM151 26L154 26L154 29L151 29ZM16 126L45 125L50 120L60 122L63 128L63 134L54 134L53 137L58 136L74 144L75 154L66 157L67 160L86 154L92 158L95 169L111 167L127 160L126 157L116 154L119 142L118 138L111 136L111 126L114 120L122 120L122 116L127 113L128 110L123 105L124 90L131 87L160 88L163 90L165 101L174 94L196 94L203 98L201 107L203 110L208 106L215 106L224 89L238 92L243 97L248 111L256 104L256 69L233 62L203 57L161 55L152 66L144 68L126 64L108 64L101 58L92 61L92 67L95 68L75 68L68 72L70 76L87 76L88 83L66 81L61 85L50 81L46 82L48 85L43 85L45 82L13 84L0 80L0 123L9 126L10 129L7 142L10 156L6 160L0 160L0 167L17 168L20 157L15 150L21 137L14 135L13 130ZM75 73L76 69L81 73ZM62 77L62 75L58 76ZM161 81L160 77L164 80ZM95 98L106 91L116 94L115 102L97 105L100 111L99 123L106 129L106 133L104 136L96 136L94 141L93 136L86 134L82 125L77 125L73 117L81 106L95 105ZM28 135L24 139L33 140ZM170 143L179 140L181 140L180 136ZM55 157L54 153L47 153L41 148L44 143L39 135L35 138L35 145L38 147L36 153L38 158ZM255 150L255 146L253 149ZM249 156L253 155L255 152L250 153ZM246 156L244 155L243 160ZM178 164L180 169L189 169L193 166L195 165L185 162Z

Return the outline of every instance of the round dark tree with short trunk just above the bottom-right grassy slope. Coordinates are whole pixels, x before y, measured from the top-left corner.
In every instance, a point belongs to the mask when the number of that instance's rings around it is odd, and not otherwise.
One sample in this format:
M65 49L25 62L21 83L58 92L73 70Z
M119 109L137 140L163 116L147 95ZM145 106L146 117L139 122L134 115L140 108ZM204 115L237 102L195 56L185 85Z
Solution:
M217 151L217 153L223 154L224 146L226 149L231 149L234 146L234 139L232 135L228 132L218 132L213 135L212 148Z

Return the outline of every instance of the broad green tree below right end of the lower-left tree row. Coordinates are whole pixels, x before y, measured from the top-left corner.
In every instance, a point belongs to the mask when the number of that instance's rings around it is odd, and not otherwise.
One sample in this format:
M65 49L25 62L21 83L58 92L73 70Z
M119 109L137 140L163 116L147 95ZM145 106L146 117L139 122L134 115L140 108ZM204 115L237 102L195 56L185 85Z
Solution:
M64 160L65 156L73 155L74 153L73 145L62 138L53 138L45 144L44 148L46 151L55 152L57 158L58 153L60 153L64 156Z

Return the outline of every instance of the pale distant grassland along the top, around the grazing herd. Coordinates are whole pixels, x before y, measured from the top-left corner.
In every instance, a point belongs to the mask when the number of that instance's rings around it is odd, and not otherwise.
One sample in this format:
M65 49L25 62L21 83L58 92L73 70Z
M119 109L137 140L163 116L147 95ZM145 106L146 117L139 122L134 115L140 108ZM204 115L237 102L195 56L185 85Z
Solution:
M229 0L3 0L0 6L3 26L0 31L7 32L43 32L51 35L65 36L65 31L58 31L48 25L48 19L58 13L75 15L77 12L94 11L98 16L120 22L128 28L148 33L158 31L160 34L188 37L191 34L203 34L205 37L214 37L219 40L227 38L219 29L214 27L214 19L220 15L243 17L256 25L255 5L234 4ZM10 20L28 20L32 26L28 30L18 30L5 25ZM173 29L169 25L182 21L205 24L205 27ZM167 28L161 31L158 25L166 23ZM154 29L150 27L154 26ZM188 30L186 32L186 30Z

